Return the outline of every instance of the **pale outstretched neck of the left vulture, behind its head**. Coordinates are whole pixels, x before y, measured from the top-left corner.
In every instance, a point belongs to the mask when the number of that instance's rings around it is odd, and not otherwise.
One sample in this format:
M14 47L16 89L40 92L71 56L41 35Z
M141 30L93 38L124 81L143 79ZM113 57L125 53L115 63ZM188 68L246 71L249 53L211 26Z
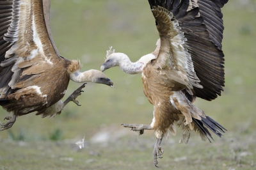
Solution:
M95 82L95 70L88 70L85 72L76 72L70 73L70 80L74 82Z

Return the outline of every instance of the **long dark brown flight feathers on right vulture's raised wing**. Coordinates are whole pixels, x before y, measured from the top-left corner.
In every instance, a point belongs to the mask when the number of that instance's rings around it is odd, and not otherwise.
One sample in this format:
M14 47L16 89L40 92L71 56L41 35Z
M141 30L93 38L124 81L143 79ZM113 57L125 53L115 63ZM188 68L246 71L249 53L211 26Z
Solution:
M179 20L187 39L194 70L204 88L194 86L196 97L213 100L224 86L224 54L221 50L223 20L221 7L227 0L156 1ZM152 8L152 4L151 4Z

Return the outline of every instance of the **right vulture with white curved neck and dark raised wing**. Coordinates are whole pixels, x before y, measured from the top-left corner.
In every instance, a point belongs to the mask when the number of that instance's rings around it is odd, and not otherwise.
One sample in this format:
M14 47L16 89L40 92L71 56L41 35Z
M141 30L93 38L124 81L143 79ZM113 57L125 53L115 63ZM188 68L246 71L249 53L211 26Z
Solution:
M122 124L131 130L154 130L157 141L153 158L161 158L164 134L182 131L180 143L188 143L192 130L211 142L210 131L225 132L193 102L196 97L214 100L224 86L223 14L228 0L148 0L156 20L159 40L156 50L132 63L126 54L107 51L100 70L113 66L129 74L141 73L143 92L154 105L150 125ZM213 140L213 139L212 139Z

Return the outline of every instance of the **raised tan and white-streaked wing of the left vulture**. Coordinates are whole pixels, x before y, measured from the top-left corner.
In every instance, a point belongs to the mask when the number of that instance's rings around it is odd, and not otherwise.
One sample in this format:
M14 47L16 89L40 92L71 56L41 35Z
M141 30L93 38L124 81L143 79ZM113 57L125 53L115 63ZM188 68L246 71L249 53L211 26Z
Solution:
M36 75L60 58L51 36L49 7L49 0L0 0L0 98L21 81L31 79L33 84Z

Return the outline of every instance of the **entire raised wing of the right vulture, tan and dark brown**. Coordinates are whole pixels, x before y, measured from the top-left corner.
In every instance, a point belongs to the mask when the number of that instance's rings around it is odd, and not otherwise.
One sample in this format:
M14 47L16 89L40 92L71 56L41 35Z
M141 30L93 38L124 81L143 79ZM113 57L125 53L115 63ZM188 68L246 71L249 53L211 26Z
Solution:
M189 73L190 79L196 79L197 76L203 88L193 85L196 97L213 100L217 95L221 95L225 81L224 54L221 51L223 21L220 8L227 3L227 0L148 1L161 39L158 63L166 65L167 61L171 60L175 69L177 65L183 65L183 70ZM165 15L163 14L165 18L159 18L156 12L154 14L157 10L156 6L166 11ZM171 17L172 14L174 17ZM166 26L166 22L172 23L172 26ZM175 25L176 22L178 22L177 25ZM179 46L184 48L182 54L188 52L189 55L186 55L186 58L184 55L180 56L180 52L175 56L175 51L179 50L175 45L173 47L173 44L177 40L179 40ZM166 43L170 45L170 54L168 54Z

